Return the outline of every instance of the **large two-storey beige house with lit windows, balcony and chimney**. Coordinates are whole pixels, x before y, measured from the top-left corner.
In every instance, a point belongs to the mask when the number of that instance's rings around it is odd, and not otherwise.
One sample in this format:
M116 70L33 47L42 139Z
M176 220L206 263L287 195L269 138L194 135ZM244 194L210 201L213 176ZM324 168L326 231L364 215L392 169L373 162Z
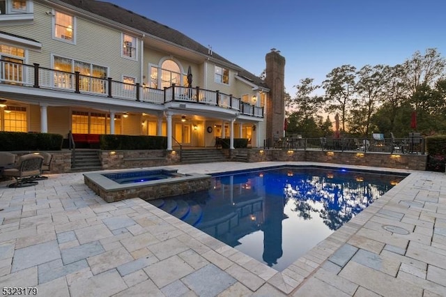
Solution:
M0 130L259 147L283 131L284 63L266 54L263 80L112 3L0 0Z

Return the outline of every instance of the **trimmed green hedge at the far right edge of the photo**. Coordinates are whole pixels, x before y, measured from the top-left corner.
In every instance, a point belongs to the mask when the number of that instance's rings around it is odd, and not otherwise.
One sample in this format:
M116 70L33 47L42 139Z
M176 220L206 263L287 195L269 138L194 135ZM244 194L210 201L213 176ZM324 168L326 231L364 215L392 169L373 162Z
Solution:
M426 148L429 152L426 169L433 172L445 172L446 135L426 137Z

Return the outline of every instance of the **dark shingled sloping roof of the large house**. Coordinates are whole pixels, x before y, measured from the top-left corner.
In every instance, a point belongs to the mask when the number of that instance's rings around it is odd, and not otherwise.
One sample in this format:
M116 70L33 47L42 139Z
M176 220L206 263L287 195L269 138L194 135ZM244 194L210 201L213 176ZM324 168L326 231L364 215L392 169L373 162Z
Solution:
M93 13L95 15L99 15L101 17L105 17L108 20L112 20L114 22L118 22L119 24L123 24L125 26L129 26L133 29L137 29L141 32L146 32L157 38L161 38L162 40L167 40L170 43L174 43L176 45L180 45L194 52L198 52L203 55L208 55L208 47L197 43L197 41L192 38L187 37L185 34L181 33L176 29L172 29L169 26L164 24L160 24L155 20L148 19L144 15L138 15L137 13L132 12L131 10L127 10L116 4L104 2L104 1L95 1L95 0L60 0L63 3L67 3L71 6L75 6L76 8L86 10L89 13ZM228 63L232 65L234 68L243 69L240 66L232 63L229 60L224 59L224 57L219 54L213 52L213 59L217 61L222 61L223 63ZM247 70L242 70L242 77L248 77L252 80L252 82L258 86L266 86L266 83L256 75L249 73Z

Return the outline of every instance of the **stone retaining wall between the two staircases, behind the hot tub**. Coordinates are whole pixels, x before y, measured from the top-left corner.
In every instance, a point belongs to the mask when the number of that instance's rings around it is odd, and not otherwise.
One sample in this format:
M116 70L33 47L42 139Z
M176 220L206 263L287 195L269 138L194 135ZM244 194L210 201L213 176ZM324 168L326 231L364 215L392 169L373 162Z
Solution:
M174 165L180 162L176 151L142 150L142 151L100 151L102 169L125 169Z

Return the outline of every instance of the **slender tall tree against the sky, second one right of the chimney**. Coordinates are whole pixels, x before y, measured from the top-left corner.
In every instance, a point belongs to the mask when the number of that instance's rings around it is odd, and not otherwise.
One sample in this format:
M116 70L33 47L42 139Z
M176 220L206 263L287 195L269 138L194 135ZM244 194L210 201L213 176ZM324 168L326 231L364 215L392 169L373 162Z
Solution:
M346 116L355 92L355 66L334 68L322 83L325 89L327 112L340 112L342 130L346 130Z

